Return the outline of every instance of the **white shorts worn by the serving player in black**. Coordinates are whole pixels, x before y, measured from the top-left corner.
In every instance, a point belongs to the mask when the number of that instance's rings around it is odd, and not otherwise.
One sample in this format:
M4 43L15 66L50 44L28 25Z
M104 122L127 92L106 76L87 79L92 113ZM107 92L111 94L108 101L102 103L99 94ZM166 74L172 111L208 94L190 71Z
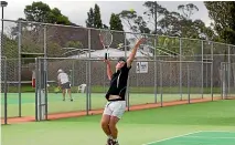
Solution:
M126 110L126 101L107 102L104 114L121 118Z

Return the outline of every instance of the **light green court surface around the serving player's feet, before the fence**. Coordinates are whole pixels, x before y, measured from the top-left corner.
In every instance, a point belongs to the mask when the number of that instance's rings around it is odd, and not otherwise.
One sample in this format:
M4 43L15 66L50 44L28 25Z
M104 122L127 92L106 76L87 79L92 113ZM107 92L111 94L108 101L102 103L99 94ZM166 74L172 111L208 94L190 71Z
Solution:
M235 100L126 112L118 123L122 145L141 145L197 131L235 132ZM2 126L3 145L102 145L100 115Z

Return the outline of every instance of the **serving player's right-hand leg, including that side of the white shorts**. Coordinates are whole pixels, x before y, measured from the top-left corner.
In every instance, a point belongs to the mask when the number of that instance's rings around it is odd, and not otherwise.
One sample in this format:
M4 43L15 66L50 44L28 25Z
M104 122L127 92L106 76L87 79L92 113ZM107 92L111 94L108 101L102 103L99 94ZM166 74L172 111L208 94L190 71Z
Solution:
M126 110L126 101L118 101L113 104L114 106L114 112L111 113L110 122L109 122L109 130L111 132L113 136L113 145L119 145L118 144L118 128L117 128L117 123L121 118L121 116L125 113Z

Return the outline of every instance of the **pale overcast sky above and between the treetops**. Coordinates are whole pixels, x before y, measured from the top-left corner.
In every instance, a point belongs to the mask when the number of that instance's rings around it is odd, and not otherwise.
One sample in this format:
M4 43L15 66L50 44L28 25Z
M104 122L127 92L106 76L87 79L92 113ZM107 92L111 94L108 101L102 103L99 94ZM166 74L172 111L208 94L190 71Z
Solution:
M39 0L7 0L8 7L4 8L4 19L17 20L18 18L24 18L23 10L25 6L32 4L33 1ZM104 24L109 25L110 14L119 13L122 10L133 9L141 15L146 10L143 1L78 1L78 0L41 0L47 3L51 8L58 8L62 13L68 19L78 24L85 27L87 19L87 12L90 8L94 8L95 3L100 7L100 14ZM167 8L169 11L178 11L179 4L194 3L199 11L192 15L192 19L201 19L206 25L210 25L211 20L207 14L207 10L203 1L158 1L159 4Z

